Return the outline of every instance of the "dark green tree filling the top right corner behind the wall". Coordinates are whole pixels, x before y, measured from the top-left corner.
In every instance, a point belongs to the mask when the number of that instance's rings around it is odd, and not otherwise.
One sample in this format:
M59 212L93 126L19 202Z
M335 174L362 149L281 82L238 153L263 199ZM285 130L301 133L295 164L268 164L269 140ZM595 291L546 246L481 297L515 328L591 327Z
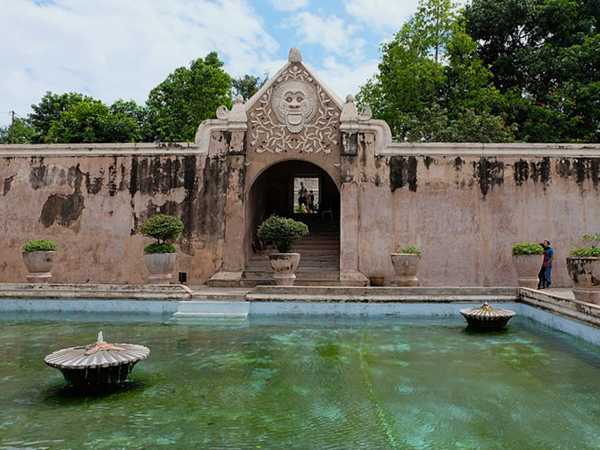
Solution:
M473 0L465 17L517 139L600 142L598 0Z

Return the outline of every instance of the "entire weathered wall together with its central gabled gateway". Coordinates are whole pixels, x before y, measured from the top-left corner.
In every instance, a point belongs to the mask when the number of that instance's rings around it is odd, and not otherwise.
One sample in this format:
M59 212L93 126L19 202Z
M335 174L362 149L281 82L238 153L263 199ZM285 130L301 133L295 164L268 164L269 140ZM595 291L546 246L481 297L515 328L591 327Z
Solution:
M413 244L424 285L516 285L512 244L549 239L566 286L569 249L600 231L600 146L396 143L297 50L216 117L194 143L0 145L0 282L24 281L21 246L44 238L56 281L142 282L157 212L184 222L177 272L221 286L270 281L256 228L273 213L311 229L298 285L391 282Z

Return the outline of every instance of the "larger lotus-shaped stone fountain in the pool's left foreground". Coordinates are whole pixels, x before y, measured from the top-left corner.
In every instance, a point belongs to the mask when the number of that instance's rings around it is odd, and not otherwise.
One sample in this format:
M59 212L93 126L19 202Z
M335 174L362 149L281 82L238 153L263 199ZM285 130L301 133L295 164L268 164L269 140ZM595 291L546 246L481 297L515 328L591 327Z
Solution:
M150 349L143 345L104 342L100 331L94 344L58 350L44 362L59 369L67 383L86 389L125 383L133 366L148 355Z

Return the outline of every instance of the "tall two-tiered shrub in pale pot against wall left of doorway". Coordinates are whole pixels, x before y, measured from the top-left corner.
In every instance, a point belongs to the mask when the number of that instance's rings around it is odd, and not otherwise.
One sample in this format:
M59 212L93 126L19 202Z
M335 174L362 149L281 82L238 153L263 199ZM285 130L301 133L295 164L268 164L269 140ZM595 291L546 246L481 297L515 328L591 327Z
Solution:
M179 217L168 214L155 214L147 219L140 230L144 236L156 239L156 242L144 247L144 263L150 281L169 281L175 269L177 249L173 241L183 231L183 222Z

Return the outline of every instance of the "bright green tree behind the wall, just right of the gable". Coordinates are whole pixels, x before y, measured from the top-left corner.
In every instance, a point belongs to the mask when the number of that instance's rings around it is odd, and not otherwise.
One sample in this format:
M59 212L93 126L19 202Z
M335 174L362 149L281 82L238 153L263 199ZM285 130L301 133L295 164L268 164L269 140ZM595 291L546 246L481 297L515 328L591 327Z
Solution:
M423 0L383 46L378 75L360 103L408 141L510 141L504 98L449 1Z

